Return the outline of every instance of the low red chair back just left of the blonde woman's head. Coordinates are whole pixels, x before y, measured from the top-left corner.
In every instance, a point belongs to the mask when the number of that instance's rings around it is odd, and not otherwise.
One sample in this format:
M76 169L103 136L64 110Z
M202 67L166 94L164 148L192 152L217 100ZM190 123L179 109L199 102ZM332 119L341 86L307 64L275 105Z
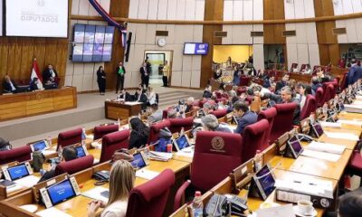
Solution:
M75 174L81 170L91 168L91 166L93 166L93 161L94 157L91 155L83 156L71 161L64 161L55 167L55 175L62 175L65 173L69 175Z

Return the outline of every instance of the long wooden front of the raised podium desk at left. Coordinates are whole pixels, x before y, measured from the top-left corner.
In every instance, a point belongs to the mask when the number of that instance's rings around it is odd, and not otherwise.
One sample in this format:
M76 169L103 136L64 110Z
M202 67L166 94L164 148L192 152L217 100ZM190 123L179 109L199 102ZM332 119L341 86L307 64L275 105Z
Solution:
M77 90L67 87L0 96L0 121L77 108Z

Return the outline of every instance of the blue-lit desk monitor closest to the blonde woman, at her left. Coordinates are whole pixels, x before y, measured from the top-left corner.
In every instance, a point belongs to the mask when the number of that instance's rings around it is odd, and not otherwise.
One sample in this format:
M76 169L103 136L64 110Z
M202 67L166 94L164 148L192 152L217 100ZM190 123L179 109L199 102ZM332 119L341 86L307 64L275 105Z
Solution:
M62 203L76 195L69 179L50 186L48 188L48 194L52 201L52 205Z

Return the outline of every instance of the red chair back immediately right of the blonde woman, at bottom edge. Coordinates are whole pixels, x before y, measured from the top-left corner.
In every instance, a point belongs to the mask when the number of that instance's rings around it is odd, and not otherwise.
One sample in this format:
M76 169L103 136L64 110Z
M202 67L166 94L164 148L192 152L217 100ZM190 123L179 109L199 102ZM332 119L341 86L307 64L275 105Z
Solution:
M166 169L145 184L140 184L129 193L127 217L161 217L167 203L175 173Z

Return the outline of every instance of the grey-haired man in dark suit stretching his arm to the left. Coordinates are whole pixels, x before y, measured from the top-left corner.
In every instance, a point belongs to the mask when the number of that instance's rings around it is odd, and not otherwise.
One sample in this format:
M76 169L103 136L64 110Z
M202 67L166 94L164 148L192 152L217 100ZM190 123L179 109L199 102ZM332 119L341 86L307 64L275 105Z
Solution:
M293 116L293 125L299 125L300 124L300 101L298 99L293 98L293 91L291 90L291 87L286 86L281 89L281 95L276 95L273 93L258 93L255 92L256 96L260 96L262 99L271 99L275 101L277 104L282 103L289 103L289 102L295 102L297 104L297 109L294 110L294 116Z

